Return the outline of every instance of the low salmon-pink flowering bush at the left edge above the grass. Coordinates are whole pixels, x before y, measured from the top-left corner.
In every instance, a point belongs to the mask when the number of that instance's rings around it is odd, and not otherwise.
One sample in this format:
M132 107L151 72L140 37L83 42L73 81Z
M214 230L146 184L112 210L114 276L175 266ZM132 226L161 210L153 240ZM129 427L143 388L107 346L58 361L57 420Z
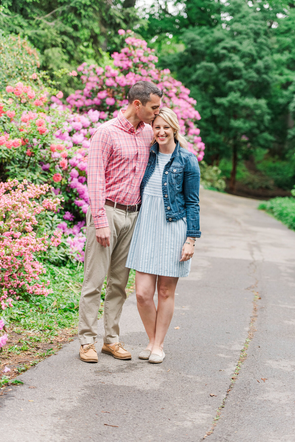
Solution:
M12 307L13 298L27 294L47 296L50 281L37 259L41 252L61 243L61 230L38 235L34 228L44 212L55 212L60 198L48 198L48 184L29 184L26 179L0 183L0 307ZM44 218L44 217L43 217ZM40 229L38 229L40 230Z

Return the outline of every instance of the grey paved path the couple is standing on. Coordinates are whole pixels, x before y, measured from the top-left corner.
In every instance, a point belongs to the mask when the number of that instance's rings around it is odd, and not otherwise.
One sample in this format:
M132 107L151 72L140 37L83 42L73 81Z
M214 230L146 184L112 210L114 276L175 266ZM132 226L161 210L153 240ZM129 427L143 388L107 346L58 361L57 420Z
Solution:
M202 191L202 238L177 286L162 364L137 358L147 338L132 294L121 338L133 359L99 353L88 365L76 339L66 344L0 398L1 440L195 442L210 433L226 396L207 441L294 442L295 232L257 204ZM226 393L255 305L248 358Z

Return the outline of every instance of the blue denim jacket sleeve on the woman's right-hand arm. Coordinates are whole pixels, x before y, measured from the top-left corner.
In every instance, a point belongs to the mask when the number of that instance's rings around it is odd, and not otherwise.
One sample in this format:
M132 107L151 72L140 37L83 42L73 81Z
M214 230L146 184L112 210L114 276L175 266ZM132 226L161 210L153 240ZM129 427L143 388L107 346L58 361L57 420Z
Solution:
M201 236L199 224L199 188L199 163L195 155L190 155L184 168L183 193L186 206L187 236L194 236L196 238Z

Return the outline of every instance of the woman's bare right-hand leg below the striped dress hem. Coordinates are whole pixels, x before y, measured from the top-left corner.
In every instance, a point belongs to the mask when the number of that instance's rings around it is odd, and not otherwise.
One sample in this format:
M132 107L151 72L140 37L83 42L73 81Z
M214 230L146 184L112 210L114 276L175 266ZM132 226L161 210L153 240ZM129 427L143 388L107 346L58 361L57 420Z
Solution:
M178 278L172 276L158 276L158 306L156 320L156 334L152 353L162 356L164 339L168 331L174 312L174 297Z

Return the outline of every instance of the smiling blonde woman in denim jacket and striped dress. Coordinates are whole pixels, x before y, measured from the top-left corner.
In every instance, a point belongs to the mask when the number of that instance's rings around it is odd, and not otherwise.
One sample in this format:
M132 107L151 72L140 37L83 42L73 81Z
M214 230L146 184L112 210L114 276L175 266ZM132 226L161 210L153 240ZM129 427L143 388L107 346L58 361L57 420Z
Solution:
M141 183L142 206L126 267L136 270L138 312L149 336L139 358L159 363L165 358L163 345L174 312L176 284L179 277L188 276L195 238L201 235L200 169L179 133L173 110L163 107L152 126L154 140Z

